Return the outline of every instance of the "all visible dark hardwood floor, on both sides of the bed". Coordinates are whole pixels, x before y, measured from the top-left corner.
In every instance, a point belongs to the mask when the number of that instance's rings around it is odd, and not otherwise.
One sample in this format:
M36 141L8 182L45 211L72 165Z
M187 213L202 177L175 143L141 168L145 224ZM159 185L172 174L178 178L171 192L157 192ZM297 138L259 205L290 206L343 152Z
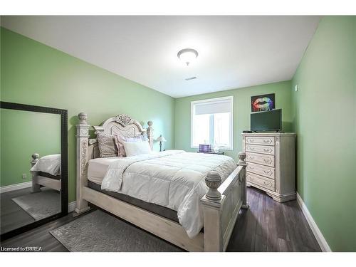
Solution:
M227 251L320 251L296 201L281 204L250 187L248 203L250 208L239 214ZM73 215L68 214L2 241L1 246L41 246L42 251L67 251L49 231L73 219Z

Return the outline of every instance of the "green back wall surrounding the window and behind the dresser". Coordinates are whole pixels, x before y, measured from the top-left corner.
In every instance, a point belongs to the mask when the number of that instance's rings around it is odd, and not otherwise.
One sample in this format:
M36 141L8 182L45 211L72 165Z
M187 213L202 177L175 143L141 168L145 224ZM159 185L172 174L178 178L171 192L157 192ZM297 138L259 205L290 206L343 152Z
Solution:
M281 108L283 130L292 130L290 80L280 83L257 85L248 88L226 90L187 98L177 98L174 110L175 148L186 151L197 151L190 148L190 103L194 100L219 98L234 95L234 150L225 150L225 155L237 159L241 152L241 132L250 129L251 96L275 93L276 108Z

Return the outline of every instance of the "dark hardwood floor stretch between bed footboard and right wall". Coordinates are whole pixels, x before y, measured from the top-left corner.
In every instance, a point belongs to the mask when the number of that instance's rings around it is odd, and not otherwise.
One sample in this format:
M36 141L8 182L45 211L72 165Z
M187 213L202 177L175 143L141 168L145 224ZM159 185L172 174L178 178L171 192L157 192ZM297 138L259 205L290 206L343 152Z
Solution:
M259 189L248 189L227 251L320 251L297 201L278 203Z

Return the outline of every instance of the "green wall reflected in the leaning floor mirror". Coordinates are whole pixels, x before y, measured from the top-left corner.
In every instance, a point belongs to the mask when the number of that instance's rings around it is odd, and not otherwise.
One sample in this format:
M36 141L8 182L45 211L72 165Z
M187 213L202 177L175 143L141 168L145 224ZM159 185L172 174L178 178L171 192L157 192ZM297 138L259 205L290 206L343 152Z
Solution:
M1 109L0 121L1 187L31 181L33 153L61 153L60 115Z

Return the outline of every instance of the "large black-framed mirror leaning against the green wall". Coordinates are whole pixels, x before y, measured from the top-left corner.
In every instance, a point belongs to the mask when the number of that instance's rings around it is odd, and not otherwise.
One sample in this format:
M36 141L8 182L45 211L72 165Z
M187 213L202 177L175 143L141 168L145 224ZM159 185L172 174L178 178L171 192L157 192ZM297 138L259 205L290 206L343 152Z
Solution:
M68 214L67 110L1 102L1 239Z

